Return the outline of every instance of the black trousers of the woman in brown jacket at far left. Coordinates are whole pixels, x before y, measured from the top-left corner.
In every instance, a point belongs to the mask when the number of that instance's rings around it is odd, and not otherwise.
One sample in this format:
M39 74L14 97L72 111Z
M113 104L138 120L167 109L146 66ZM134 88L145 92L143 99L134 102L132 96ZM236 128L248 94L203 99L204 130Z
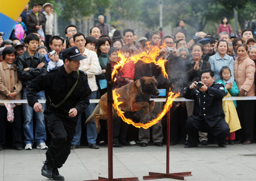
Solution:
M7 110L5 106L0 106L0 145L5 145L6 127L11 124L11 133L13 137L13 146L22 146L22 106L14 107L14 121L7 121Z

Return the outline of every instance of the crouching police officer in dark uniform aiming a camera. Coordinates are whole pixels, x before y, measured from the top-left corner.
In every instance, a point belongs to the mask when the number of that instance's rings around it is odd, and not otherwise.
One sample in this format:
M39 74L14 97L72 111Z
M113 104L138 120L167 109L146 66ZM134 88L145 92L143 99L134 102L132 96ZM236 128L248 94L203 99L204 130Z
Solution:
M222 98L226 95L224 85L214 82L212 70L202 71L200 83L193 82L184 90L184 98L195 102L193 114L186 123L188 144L185 148L197 146L199 131L213 134L218 146L226 147L225 138L229 136L230 129L222 109Z

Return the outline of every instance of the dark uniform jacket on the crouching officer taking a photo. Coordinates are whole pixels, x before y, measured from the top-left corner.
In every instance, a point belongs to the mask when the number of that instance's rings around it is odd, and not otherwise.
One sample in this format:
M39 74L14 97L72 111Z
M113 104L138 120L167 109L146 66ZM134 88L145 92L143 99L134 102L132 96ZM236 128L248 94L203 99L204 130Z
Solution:
M222 83L213 82L205 92L199 91L197 87L191 90L188 86L183 93L184 98L193 99L195 102L192 114L194 119L205 120L210 127L214 127L219 120L225 119L222 99L226 93Z

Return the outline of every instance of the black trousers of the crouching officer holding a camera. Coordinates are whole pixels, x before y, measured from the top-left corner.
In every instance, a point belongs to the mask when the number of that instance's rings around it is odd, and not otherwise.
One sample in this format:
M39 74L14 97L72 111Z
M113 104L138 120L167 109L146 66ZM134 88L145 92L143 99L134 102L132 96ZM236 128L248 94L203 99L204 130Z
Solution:
M188 132L188 146L197 146L198 144L198 132L207 132L216 137L218 145L225 143L225 138L229 136L229 125L225 119L220 119L214 127L210 127L204 120L196 120L193 116L187 119L187 132Z

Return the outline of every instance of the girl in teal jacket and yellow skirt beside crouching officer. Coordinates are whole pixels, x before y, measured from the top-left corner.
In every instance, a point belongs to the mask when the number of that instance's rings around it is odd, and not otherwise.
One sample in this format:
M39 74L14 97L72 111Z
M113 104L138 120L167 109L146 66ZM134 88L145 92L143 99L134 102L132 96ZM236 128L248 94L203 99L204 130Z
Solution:
M228 98L230 96L237 96L239 94L239 90L237 87L236 81L226 83L231 77L231 71L228 66L222 67L220 71L221 79L218 83L222 83L225 86L225 92L227 93L224 98ZM229 124L230 134L226 138L228 140L229 145L234 145L234 140L236 138L235 131L241 129L240 121L237 115L236 100L224 100L222 103L223 110L225 112L225 120Z

